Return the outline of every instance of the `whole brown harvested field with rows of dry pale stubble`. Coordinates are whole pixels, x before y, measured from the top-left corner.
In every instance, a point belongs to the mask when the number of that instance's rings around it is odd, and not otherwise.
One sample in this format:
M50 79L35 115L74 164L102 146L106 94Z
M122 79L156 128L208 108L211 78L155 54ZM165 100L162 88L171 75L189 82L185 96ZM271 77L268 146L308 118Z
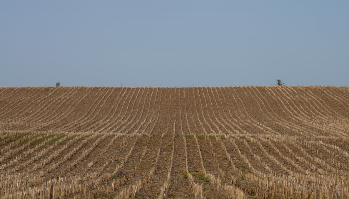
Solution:
M349 87L0 87L0 198L349 198Z

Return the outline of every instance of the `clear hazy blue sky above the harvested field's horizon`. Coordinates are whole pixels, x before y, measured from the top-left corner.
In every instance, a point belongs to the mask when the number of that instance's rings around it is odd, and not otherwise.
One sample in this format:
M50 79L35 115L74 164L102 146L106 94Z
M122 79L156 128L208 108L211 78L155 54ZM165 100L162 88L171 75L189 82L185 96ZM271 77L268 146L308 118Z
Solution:
M2 0L0 86L349 86L349 0Z

